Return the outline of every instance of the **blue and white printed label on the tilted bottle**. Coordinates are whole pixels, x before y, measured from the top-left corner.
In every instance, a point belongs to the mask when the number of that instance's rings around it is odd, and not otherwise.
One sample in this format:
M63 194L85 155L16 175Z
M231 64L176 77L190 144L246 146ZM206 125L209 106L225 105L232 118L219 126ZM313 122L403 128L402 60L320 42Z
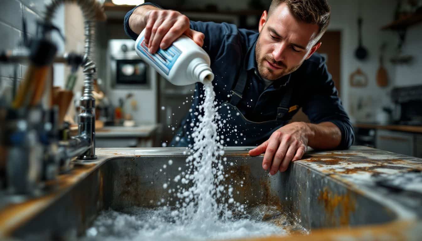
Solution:
M176 46L171 45L167 49L158 49L155 54L151 54L148 51L148 45L145 43L145 39L142 37L140 44L136 46L139 51L147 58L149 58L155 65L162 70L166 75L170 73L171 68L173 68L174 63L177 58L179 58L182 51Z

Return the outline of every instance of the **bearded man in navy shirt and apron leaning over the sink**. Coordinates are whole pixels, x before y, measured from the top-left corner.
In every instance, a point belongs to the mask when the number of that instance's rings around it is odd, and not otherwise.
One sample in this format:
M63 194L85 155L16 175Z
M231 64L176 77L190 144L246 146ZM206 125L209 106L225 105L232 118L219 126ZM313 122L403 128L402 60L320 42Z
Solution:
M346 149L353 143L352 125L325 60L315 53L329 19L326 0L273 0L262 13L258 33L227 23L189 22L177 11L147 3L126 14L124 27L133 39L145 28L151 53L182 34L202 46L211 58L222 122L230 126L224 128L223 141L228 146L259 145L249 154L265 152L262 168L273 175L299 160L307 146ZM173 144L192 141L201 86L196 84L193 111L182 122L180 141ZM299 108L312 124L288 124Z

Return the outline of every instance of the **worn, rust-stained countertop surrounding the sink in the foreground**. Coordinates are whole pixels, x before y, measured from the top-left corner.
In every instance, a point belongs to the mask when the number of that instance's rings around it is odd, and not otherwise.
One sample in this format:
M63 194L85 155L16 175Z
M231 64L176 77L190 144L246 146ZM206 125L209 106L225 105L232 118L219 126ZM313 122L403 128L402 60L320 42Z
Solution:
M248 147L228 147L225 155L248 155ZM100 165L115 157L155 155L185 155L185 148L97 148L95 162L78 162L75 168L57 178L56 188L39 198L24 203L9 204L0 209L0 239L14 232L65 195ZM263 155L257 158L263 158ZM380 225L312 230L310 236L254 238L251 240L384 240L382 237L402 237L421 234L422 159L395 154L364 146L352 146L344 151L308 151L302 160L292 163L317 171L350 190L381 203L398 219ZM290 166L289 168L293 168ZM280 174L277 174L280 175ZM411 195L409 195L409 193ZM339 199L339 201L341 201ZM346 203L347 204L347 203ZM346 205L345 204L345 205ZM342 205L338 203L338 205ZM419 230L419 231L418 231ZM369 235L369 236L368 236ZM348 238L348 237L352 237ZM420 237L420 236L419 236ZM337 238L337 239L336 239ZM366 239L365 239L366 238ZM342 240L346 240L342 239ZM411 238L412 239L412 238ZM249 239L248 239L249 240Z

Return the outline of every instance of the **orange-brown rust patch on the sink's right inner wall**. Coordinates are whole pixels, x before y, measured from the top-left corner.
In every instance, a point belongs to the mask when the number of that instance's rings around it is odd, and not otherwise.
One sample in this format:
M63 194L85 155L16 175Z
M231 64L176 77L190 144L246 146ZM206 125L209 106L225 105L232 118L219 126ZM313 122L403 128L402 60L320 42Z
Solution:
M350 214L356 210L356 199L348 191L344 195L337 195L324 188L319 193L318 201L324 205L327 222L329 225L336 225L337 218L335 217L335 209L340 209L340 216L338 222L341 226L349 225Z

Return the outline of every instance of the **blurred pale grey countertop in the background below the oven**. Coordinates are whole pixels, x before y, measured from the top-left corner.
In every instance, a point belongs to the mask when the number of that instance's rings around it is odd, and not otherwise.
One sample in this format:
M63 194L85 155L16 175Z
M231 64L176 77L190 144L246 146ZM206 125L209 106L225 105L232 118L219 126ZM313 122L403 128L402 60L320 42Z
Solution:
M96 138L122 138L122 137L135 137L135 138L148 138L158 125L139 125L134 127L124 126L106 126L95 131Z

